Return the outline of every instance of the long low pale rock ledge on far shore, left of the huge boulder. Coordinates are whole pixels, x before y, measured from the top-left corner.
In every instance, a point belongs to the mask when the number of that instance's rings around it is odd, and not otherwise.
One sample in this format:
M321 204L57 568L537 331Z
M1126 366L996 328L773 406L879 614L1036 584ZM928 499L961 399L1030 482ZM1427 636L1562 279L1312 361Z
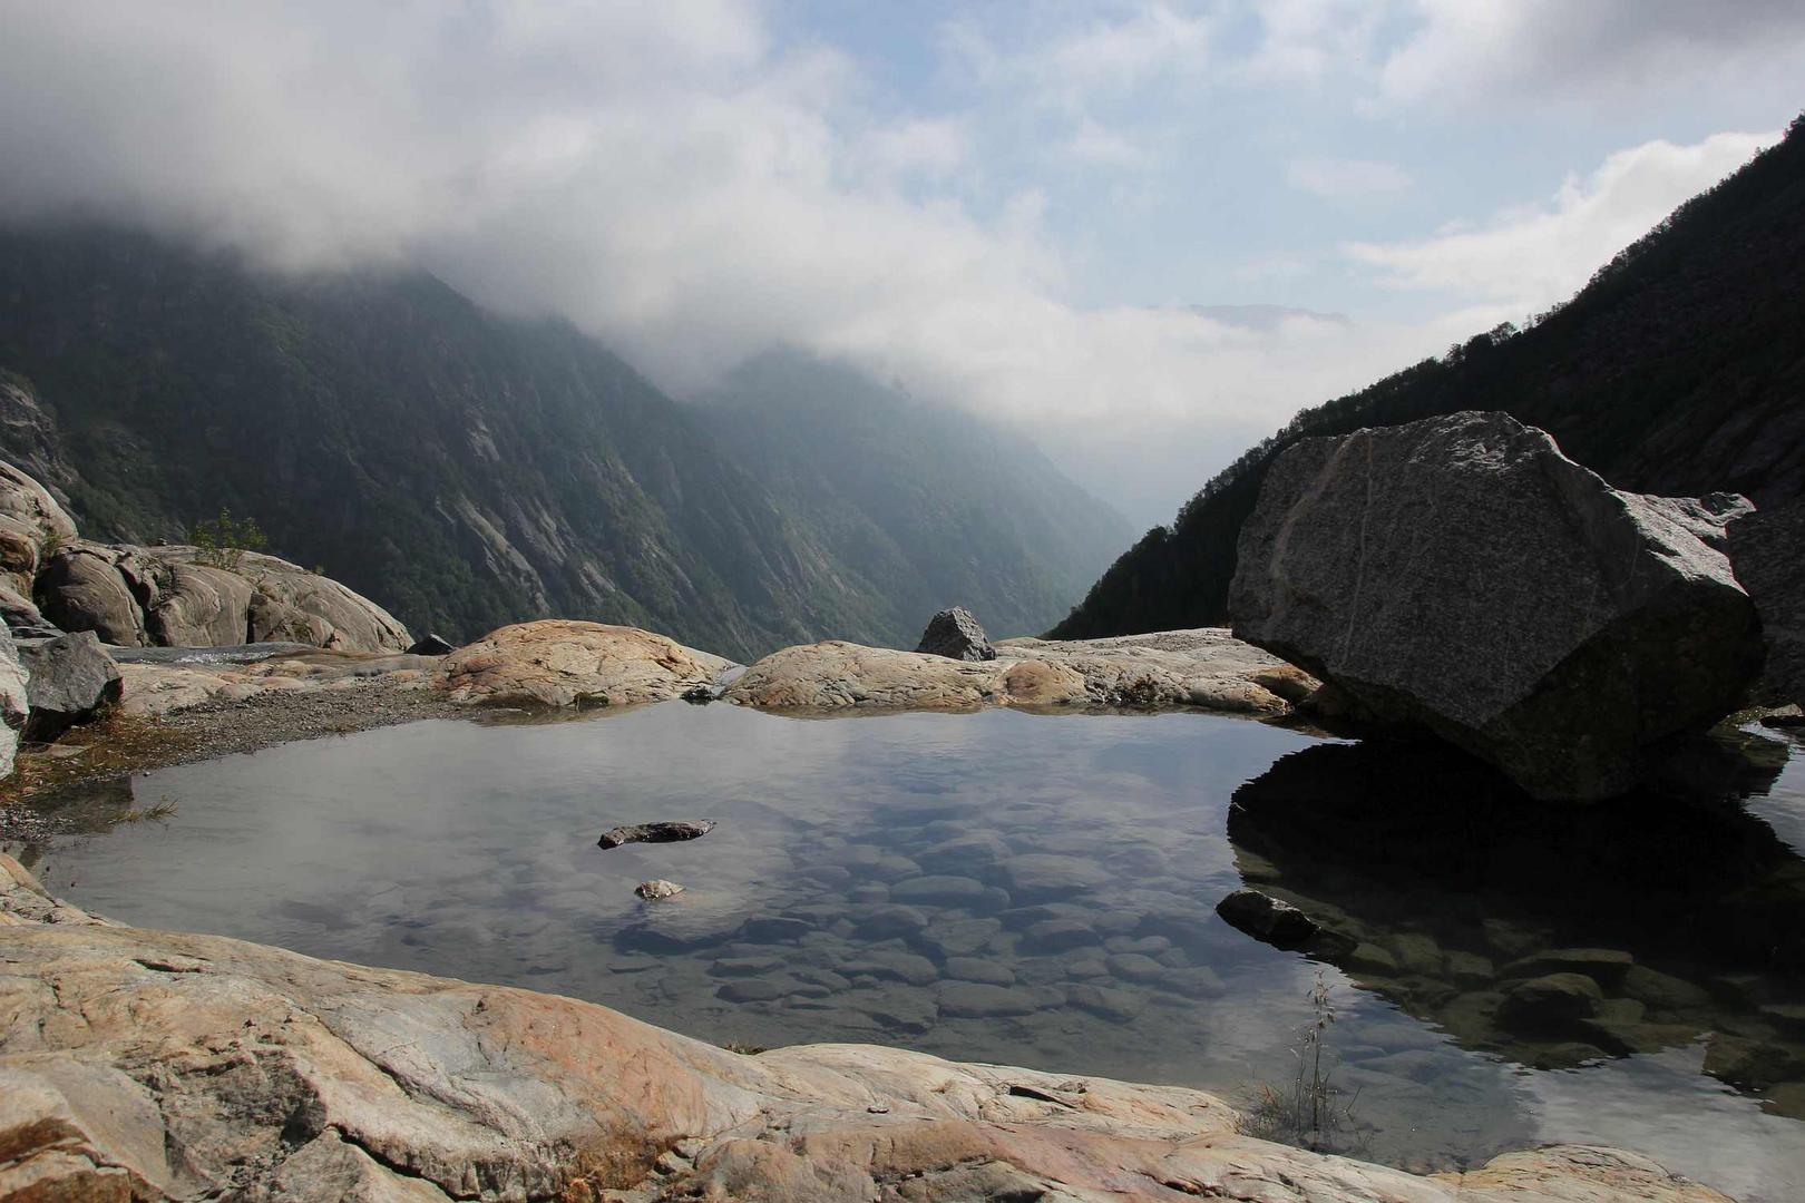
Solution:
M1009 638L996 660L948 660L827 640L776 651L724 698L767 711L975 711L1204 707L1276 716L1316 687L1303 671L1227 631L1162 631L1052 642Z

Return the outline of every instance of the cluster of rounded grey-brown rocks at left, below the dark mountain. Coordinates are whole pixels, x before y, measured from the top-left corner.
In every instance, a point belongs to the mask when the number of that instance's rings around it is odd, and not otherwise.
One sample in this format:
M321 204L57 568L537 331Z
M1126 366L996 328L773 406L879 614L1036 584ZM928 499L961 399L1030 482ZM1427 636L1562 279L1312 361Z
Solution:
M386 610L338 581L274 556L231 566L193 546L79 541L38 577L45 617L126 647L209 647L292 640L338 651L401 651L413 640Z

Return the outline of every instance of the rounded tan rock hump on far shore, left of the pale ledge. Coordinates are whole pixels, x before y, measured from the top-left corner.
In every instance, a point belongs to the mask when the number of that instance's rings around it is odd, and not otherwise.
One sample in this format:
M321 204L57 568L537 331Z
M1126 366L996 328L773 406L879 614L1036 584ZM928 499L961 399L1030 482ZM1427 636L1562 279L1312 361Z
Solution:
M473 705L635 705L711 685L729 667L639 628L545 619L458 647L437 662L433 684Z

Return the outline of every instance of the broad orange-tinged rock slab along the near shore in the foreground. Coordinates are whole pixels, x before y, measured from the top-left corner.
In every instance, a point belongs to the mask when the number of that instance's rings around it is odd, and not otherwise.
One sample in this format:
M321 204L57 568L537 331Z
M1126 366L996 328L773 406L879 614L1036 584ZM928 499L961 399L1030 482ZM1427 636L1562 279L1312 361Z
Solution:
M1182 1088L745 1057L574 999L110 925L9 857L0 1008L7 1196L1724 1199L1608 1149L1417 1178L1240 1136Z

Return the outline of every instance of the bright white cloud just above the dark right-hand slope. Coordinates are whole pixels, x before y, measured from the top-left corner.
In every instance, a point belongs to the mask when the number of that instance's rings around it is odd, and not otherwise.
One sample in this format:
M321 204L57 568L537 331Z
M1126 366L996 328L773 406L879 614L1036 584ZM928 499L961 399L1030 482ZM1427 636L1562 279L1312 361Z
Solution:
M1356 242L1347 254L1390 287L1500 303L1522 316L1578 292L1680 202L1776 141L1778 132L1717 133L1691 146L1644 142L1610 155L1585 179L1569 177L1549 204L1417 242Z

